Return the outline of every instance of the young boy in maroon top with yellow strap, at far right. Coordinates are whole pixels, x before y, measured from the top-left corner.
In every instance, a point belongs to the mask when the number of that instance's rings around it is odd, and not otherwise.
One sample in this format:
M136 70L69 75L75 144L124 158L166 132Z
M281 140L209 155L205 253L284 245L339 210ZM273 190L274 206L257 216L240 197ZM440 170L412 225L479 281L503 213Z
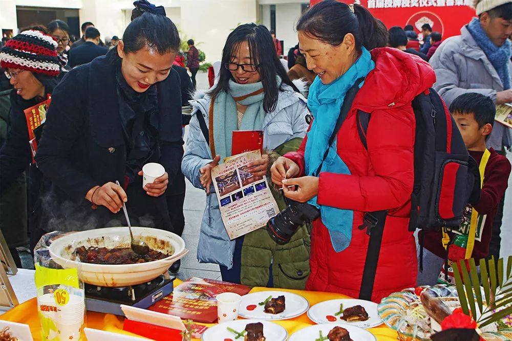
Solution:
M418 285L435 285L438 281L454 284L452 261L475 258L478 264L487 257L494 216L508 186L510 163L505 156L485 145L495 124L493 101L481 94L466 93L452 102L450 112L467 150L479 164L481 195L473 207L470 204L466 207L458 230L420 231L419 240L425 249Z

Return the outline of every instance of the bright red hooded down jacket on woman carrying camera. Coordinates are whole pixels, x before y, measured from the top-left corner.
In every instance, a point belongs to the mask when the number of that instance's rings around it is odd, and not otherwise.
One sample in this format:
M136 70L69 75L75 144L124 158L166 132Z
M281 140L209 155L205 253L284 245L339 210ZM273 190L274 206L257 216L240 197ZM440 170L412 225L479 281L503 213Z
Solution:
M411 101L431 87L436 76L428 63L397 49L378 48L371 54L375 69L357 93L337 135L338 155L351 175L323 172L318 188L319 204L354 210L352 241L336 253L321 219L313 222L311 275L306 289L358 297L369 241L366 230L358 226L364 212L389 209L372 295L372 301L380 302L391 292L416 286L416 244L408 231L414 181ZM357 109L371 113L368 152L357 132ZM299 165L301 174L306 139L297 152L285 155Z

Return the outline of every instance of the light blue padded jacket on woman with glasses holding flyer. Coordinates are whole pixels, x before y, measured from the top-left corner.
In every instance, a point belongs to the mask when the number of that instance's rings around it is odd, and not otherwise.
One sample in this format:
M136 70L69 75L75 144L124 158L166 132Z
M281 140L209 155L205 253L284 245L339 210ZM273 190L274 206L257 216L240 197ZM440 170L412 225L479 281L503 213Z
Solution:
M294 92L289 85L283 84L282 88L284 91L279 93L275 110L267 113L263 120L263 148L266 150L274 149L294 138L303 138L308 129L306 116L309 111L306 99ZM208 122L210 98L204 96L191 101L191 104L193 117L190 120L181 170L194 187L202 189L199 169L212 161L212 155L196 115L203 115L205 122ZM229 240L222 222L217 195L211 186L201 222L197 258L202 263L215 263L231 268L233 253L234 240Z

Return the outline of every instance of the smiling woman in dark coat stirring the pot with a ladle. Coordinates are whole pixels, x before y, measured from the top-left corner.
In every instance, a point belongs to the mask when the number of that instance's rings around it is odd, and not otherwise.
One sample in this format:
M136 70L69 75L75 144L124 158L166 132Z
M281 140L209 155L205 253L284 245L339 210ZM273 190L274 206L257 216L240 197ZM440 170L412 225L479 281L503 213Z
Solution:
M182 156L180 82L171 69L179 46L169 18L144 13L116 49L75 67L55 88L35 156L51 181L43 229L125 226L127 202L132 225L173 231L164 193ZM165 173L143 187L147 163Z

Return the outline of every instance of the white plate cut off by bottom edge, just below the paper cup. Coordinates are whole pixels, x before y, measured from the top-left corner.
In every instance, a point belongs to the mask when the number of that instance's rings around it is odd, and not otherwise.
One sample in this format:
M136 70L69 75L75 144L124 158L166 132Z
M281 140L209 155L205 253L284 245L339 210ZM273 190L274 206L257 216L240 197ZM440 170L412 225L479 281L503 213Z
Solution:
M271 341L285 341L288 337L288 332L286 329L281 327L280 325L276 325L275 323L268 321L258 321L258 320L234 320L229 322L219 323L218 325L211 326L203 333L201 336L202 341L222 341L225 338L230 338L234 340L235 334L228 331L226 328L229 327L236 331L245 330L245 326L249 323L263 323L263 335L267 340ZM244 341L244 339L238 338L238 341Z

